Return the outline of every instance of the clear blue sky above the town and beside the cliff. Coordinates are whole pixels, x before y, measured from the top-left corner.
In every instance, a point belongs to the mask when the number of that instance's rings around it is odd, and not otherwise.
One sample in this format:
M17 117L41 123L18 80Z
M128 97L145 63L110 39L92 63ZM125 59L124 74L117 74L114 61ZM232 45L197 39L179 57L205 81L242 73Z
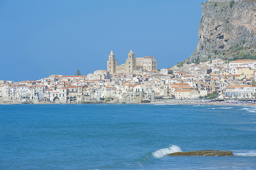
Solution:
M168 68L195 50L206 0L0 0L0 80L82 75L130 50Z

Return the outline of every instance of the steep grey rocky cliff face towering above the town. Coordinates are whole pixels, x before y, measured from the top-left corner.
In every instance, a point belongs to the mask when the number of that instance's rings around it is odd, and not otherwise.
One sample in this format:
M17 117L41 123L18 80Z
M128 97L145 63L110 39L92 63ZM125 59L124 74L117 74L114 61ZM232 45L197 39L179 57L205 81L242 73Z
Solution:
M203 13L198 28L199 41L195 52L186 62L214 55L214 49L216 53L216 50L226 51L232 46L251 48L256 44L255 0L237 1L232 7L230 1L209 0L202 3L201 7Z

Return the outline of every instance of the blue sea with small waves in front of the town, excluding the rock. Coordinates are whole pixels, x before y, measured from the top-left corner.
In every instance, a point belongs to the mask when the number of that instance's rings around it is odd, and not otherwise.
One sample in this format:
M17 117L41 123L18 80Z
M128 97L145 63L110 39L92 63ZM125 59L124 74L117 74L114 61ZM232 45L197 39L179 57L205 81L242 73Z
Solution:
M256 169L256 107L1 104L0 169Z

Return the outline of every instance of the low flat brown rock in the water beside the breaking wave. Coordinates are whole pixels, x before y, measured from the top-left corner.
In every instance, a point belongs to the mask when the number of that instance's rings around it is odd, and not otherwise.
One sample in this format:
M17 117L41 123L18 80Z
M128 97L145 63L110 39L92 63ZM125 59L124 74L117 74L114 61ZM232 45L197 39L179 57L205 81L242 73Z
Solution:
M167 156L233 156L232 151L195 150L190 152L174 152Z

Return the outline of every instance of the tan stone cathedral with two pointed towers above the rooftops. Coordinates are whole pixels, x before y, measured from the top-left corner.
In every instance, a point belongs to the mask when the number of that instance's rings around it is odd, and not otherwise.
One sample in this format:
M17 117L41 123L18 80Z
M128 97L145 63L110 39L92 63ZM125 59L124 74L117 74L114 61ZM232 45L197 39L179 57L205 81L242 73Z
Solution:
M115 55L111 50L110 55L108 55L107 60L107 70L110 74L114 73L133 73L135 70L144 69L144 70L157 70L157 61L154 56L145 56L136 58L134 57L134 53L131 50L128 53L128 58L126 58L126 62L121 65L117 65L117 60L115 60Z

